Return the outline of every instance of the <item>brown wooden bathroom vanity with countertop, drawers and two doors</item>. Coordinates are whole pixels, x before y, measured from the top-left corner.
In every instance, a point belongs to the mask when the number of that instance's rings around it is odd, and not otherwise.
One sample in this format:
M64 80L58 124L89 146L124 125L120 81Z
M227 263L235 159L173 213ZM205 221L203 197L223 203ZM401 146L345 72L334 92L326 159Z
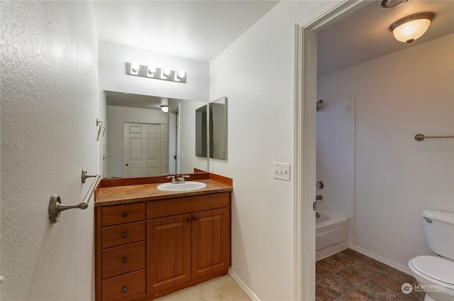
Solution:
M101 181L94 203L96 300L152 300L228 272L232 181L211 173L191 180L206 187L157 190L165 177Z

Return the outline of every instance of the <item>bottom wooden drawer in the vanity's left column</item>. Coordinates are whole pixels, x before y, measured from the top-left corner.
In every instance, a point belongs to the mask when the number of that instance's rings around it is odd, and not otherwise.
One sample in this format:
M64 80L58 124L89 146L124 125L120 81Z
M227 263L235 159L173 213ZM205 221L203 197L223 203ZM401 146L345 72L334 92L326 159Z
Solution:
M102 300L146 300L145 270L102 280Z

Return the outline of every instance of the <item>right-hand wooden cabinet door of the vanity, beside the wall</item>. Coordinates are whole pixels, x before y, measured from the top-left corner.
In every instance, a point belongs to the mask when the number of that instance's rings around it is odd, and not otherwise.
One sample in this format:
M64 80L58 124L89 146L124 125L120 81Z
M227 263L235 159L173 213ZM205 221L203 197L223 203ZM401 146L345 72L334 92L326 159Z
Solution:
M228 208L192 214L192 278L226 271L229 266Z

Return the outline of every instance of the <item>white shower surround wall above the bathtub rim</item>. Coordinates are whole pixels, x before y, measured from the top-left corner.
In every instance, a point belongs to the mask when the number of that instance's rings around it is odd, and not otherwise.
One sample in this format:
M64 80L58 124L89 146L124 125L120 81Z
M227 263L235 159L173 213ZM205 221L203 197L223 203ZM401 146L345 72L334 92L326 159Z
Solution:
M316 189L323 199L320 212L354 218L355 197L355 99L331 103L324 99L317 111ZM332 102L332 101L331 101Z

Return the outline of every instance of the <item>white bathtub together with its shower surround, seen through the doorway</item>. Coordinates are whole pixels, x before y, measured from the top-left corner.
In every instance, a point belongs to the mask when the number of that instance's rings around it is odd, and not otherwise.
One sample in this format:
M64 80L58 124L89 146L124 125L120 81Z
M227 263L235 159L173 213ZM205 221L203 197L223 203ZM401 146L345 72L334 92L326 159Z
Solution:
M355 199L355 99L323 101L317 111L316 260L348 248ZM336 213L333 213L336 212Z

